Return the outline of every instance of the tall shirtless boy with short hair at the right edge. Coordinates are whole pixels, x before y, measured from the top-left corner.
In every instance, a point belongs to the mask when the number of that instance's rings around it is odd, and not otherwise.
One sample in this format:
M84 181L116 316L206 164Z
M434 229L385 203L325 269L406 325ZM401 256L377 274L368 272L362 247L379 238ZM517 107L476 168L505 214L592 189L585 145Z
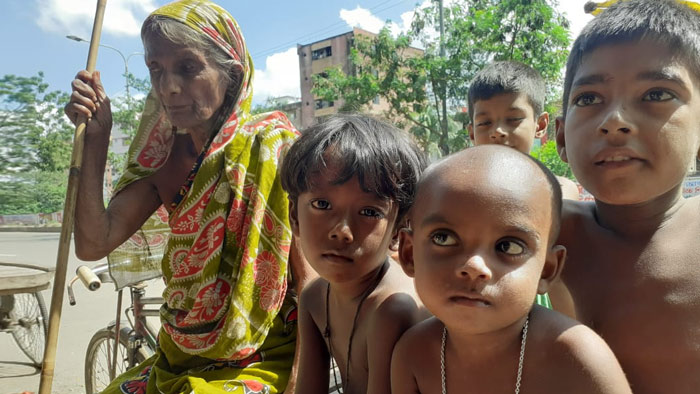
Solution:
M700 390L700 14L620 2L568 60L559 154L595 203L567 202L559 243L571 309L610 345L635 393Z

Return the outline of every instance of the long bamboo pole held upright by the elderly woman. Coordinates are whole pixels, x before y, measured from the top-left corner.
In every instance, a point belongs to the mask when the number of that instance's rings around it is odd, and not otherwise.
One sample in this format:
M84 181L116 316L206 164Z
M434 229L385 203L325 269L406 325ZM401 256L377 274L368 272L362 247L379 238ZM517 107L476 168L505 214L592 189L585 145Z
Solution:
M92 37L86 70L95 71L97 63L97 49L100 45L100 33L102 32L102 20L104 19L107 0L97 0L95 21L92 25ZM58 255L56 257L56 273L54 277L53 292L51 293L51 310L49 312L49 333L46 338L44 361L41 368L41 380L39 394L50 394L53 383L54 369L56 366L56 347L58 345L58 330L61 324L61 308L63 307L63 292L66 285L66 271L68 269L68 253L70 252L71 235L73 233L73 221L75 214L75 201L78 196L78 181L80 169L83 163L83 147L85 143L85 127L87 119L82 117L75 127L73 136L73 153L71 154L70 172L68 174L68 188L66 201L63 207L63 224L61 226L61 238L58 243Z

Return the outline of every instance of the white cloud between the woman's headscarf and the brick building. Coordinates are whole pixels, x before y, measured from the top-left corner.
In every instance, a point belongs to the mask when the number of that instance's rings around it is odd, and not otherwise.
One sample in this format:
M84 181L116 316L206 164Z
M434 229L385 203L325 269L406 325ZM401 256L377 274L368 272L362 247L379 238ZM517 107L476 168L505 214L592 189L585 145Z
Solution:
M299 97L299 56L296 47L265 59L265 67L255 68L253 101L263 103L268 97Z

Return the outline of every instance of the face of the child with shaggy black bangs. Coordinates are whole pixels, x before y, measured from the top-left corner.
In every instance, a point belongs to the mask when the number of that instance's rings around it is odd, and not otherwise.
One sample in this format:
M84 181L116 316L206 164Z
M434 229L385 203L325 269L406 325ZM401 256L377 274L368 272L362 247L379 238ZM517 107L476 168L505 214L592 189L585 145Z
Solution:
M363 191L357 177L333 184L336 173L329 163L291 208L304 256L331 283L358 280L386 260L398 209Z

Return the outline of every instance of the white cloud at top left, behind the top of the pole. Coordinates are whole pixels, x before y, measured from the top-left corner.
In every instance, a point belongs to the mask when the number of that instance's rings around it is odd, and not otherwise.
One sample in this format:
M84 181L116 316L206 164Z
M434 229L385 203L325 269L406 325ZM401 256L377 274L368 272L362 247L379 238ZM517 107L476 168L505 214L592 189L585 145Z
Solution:
M37 25L49 32L90 38L95 2L85 0L37 0ZM103 33L137 36L141 23L157 5L154 0L110 0L105 8Z

